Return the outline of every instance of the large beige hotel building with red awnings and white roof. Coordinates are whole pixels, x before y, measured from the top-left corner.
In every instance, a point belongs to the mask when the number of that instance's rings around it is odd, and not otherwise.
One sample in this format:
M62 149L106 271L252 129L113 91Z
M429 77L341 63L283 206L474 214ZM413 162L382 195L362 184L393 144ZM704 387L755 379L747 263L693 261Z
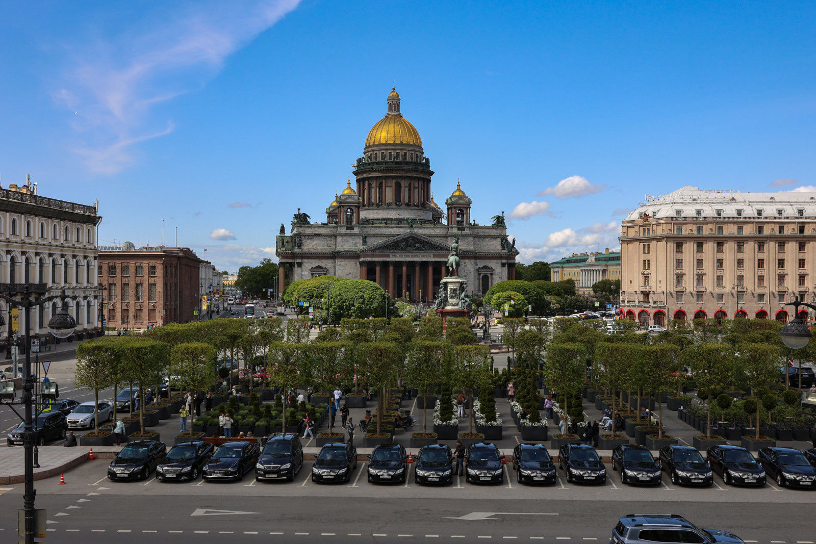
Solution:
M814 302L814 235L816 192L685 186L646 197L622 225L620 312L644 325L787 321L796 295Z

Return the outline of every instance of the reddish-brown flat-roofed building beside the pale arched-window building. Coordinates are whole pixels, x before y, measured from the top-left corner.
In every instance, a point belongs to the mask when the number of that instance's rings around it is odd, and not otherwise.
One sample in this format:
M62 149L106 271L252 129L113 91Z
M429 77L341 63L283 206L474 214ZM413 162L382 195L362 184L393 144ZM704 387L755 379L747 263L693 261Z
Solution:
M105 291L105 321L114 329L202 319L201 267L186 247L100 247L99 283ZM198 312L196 316L194 312Z

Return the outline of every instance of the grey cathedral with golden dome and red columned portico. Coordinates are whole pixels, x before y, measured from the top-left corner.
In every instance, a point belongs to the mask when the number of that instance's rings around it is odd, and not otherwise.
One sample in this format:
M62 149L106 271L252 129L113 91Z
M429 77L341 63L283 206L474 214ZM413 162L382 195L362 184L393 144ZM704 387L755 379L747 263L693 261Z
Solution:
M281 225L279 293L293 281L330 275L375 281L395 299L432 302L450 275L446 263L455 241L458 275L469 293L479 296L514 279L518 251L507 239L503 212L477 224L459 183L444 209L433 200L431 161L419 131L402 117L393 87L385 117L369 130L353 167L355 181L349 178L335 193L325 221L298 209L290 234Z

